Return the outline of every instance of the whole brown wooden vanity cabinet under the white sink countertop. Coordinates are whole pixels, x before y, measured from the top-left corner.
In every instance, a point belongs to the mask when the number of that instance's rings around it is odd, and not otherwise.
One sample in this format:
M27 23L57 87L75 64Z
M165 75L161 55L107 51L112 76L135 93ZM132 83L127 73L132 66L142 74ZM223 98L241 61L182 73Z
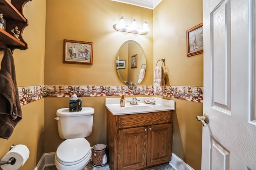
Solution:
M142 170L167 164L172 154L172 113L112 115L107 109L110 170Z

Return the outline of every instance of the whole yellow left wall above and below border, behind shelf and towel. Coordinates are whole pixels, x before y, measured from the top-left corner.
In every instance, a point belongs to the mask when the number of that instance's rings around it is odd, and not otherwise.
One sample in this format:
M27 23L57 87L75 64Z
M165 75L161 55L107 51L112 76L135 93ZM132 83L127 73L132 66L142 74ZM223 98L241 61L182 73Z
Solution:
M28 49L14 50L17 85L42 85L44 84L46 0L33 0L26 3L23 13L29 21L23 31ZM4 52L1 51L0 61L2 61L3 54ZM30 156L20 170L32 170L44 153L44 99L21 108L22 120L14 129L10 139L0 139L0 158L9 151L12 144L26 145L30 150Z

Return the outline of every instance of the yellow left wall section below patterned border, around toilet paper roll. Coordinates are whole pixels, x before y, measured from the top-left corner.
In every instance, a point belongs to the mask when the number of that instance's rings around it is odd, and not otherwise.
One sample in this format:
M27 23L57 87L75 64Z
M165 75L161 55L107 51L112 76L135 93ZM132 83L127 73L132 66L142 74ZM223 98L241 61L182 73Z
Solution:
M10 139L0 138L0 144L0 158L9 151L12 144L26 145L30 155L19 170L33 170L44 153L44 100L22 106L22 120L15 127Z

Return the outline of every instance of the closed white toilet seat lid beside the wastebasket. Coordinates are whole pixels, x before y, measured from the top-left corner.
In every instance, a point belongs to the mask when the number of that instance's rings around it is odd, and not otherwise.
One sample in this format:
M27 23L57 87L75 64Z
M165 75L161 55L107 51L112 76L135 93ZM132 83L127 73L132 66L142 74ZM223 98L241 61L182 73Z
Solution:
M90 143L86 139L67 139L58 147L56 160L62 165L75 165L85 160L90 153Z

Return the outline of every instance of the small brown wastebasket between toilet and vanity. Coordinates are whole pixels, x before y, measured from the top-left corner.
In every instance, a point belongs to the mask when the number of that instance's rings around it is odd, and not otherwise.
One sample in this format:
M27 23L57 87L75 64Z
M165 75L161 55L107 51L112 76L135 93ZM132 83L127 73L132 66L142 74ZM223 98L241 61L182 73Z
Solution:
M107 146L97 144L92 147L92 164L96 167L104 166L107 163Z

